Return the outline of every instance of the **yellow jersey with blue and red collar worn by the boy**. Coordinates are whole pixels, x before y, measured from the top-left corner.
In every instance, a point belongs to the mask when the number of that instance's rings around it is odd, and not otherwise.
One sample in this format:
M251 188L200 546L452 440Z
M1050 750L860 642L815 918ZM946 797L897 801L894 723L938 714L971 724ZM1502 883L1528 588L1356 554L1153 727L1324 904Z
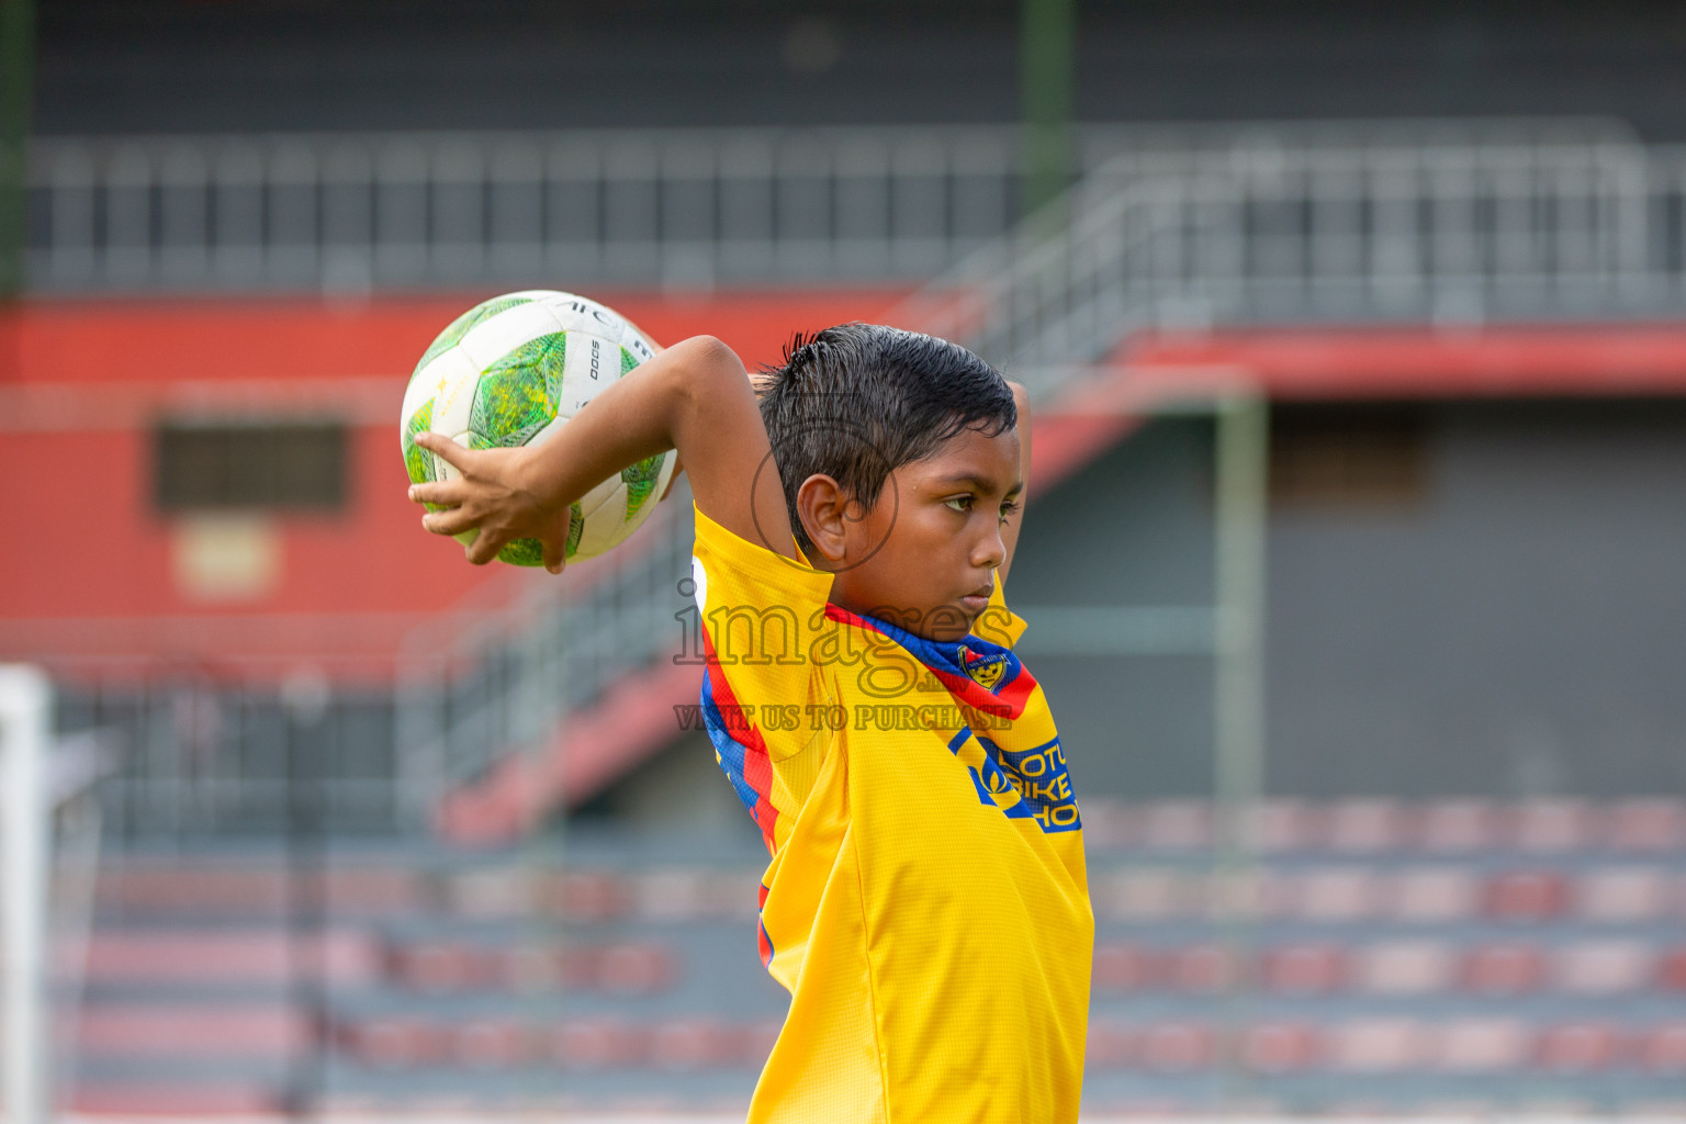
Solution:
M701 718L772 854L760 955L791 993L750 1122L1076 1121L1082 822L1000 580L939 644L695 514Z

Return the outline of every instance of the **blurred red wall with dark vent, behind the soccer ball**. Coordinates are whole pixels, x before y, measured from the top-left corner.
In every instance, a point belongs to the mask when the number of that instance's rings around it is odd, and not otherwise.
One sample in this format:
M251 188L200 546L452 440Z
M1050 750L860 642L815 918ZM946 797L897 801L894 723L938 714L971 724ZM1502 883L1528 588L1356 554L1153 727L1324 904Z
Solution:
M899 292L593 293L661 342L710 332L745 362L791 332L882 318ZM484 293L322 302L34 303L0 325L0 659L108 674L191 664L229 676L314 662L381 676L418 624L534 575L475 570L405 500L398 408L433 335ZM287 516L273 591L197 603L172 576L150 502L160 416L310 413L352 423L351 494L336 516ZM541 578L540 578L541 580Z

